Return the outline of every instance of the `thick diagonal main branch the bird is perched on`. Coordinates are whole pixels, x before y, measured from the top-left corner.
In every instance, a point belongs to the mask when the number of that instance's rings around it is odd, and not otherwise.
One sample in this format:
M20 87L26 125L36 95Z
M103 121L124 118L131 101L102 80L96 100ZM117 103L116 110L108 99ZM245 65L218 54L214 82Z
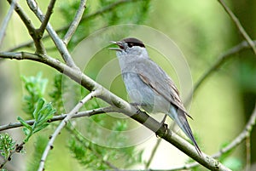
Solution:
M218 162L212 157L207 156L204 153L202 153L202 156L200 156L195 151L195 147L193 145L189 144L189 142L186 140L183 140L177 134L172 133L172 131L166 128L163 124L157 122L154 120L154 118L149 117L147 113L137 110L135 106L130 105L125 100L122 100L115 94L109 92L108 89L103 88L102 85L96 83L90 79L90 77L85 76L82 72L77 71L76 69L62 64L59 60L55 60L47 55L38 55L25 52L0 53L0 58L15 60L36 60L48 66L52 66L57 71L63 72L68 77L72 78L75 82L80 83L84 88L87 88L90 91L100 89L102 94L98 96L99 98L106 101L108 104L119 108L120 112L123 112L125 115L136 120L138 123L142 123L145 127L152 130L159 137L171 143L172 145L175 145L180 151L183 151L195 161L200 162L201 165L211 170L230 170L229 168L224 167L222 163Z

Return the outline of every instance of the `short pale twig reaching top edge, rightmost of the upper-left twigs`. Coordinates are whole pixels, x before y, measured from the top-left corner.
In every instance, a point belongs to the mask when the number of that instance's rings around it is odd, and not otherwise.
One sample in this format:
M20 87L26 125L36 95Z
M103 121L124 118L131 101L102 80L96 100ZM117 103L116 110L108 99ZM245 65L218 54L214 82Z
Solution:
M85 4L86 4L86 0L81 0L77 14L75 15L73 22L69 26L68 31L67 31L65 37L63 38L63 42L66 45L69 43L71 37L73 37L74 32L76 31L77 27L79 26L79 22L82 19L83 14L84 14Z

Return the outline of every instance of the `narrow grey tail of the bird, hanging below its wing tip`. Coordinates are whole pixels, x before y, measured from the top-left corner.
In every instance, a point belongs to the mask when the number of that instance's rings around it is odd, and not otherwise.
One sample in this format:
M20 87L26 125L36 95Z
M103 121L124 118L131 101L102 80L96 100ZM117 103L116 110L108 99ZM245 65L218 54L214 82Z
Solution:
M187 117L184 113L184 111L180 110L180 109L173 109L171 110L175 111L176 113L172 113L170 117L172 117L172 119L177 123L177 125L183 130L183 132L189 137L190 140L192 140L193 144L195 145L195 150L198 152L199 155L201 155L201 150L199 148L199 146L197 145L196 141L195 141L195 137L192 134L192 130L189 127L189 123L187 120Z

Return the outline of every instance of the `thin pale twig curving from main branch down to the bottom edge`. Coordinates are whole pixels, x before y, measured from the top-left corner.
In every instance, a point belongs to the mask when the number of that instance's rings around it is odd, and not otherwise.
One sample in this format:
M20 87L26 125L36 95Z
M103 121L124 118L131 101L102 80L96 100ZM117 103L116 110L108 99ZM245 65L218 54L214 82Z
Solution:
M53 143L55 141L55 138L57 137L58 134L61 133L61 129L64 128L64 126L66 125L66 123L69 121L69 119L71 119L73 117L73 115L75 115L76 113L78 113L79 109L84 105L84 103L86 103L88 100L90 100L91 98L101 94L102 91L99 89L96 89L95 91L92 91L90 94L86 95L84 97L83 100L79 101L79 104L77 104L72 111L70 111L70 113L68 113L67 117L65 117L61 123L59 124L59 126L55 129L54 134L51 135L48 144L46 145L45 149L44 149L44 153L41 157L40 160L40 164L39 164L39 168L38 171L43 171L44 170L44 163L45 160L48 156L49 151L53 148Z

